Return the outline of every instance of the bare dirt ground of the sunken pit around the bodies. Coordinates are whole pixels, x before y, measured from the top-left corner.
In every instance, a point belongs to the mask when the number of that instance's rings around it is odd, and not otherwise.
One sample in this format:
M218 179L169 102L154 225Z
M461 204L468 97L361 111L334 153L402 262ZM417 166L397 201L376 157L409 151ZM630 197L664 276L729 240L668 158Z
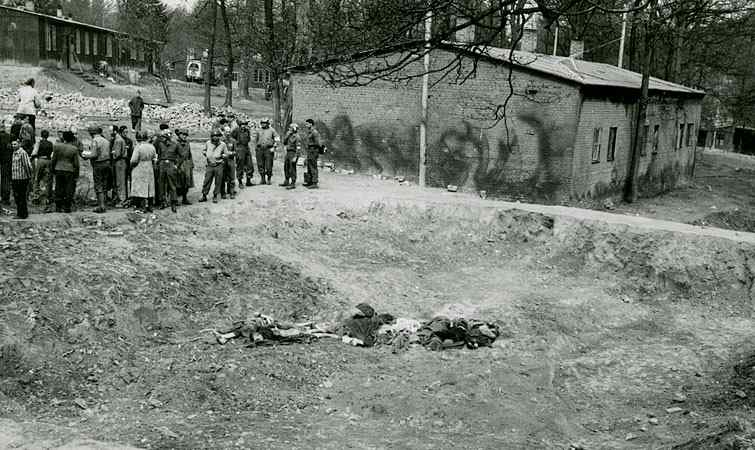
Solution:
M746 448L755 246L496 205L324 173L143 222L0 219L0 447ZM504 336L393 354L202 331L359 302Z

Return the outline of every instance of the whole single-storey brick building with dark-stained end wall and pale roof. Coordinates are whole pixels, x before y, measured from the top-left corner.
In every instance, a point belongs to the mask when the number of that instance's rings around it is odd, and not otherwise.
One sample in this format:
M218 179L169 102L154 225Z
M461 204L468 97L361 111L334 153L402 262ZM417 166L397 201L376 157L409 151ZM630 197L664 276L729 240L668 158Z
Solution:
M366 64L405 56L377 55ZM427 183L546 201L600 197L623 189L641 83L640 74L607 64L447 44L431 68L458 62L454 74L430 76ZM511 69L511 70L509 70ZM400 75L422 73L418 60ZM340 166L416 179L421 79L377 80L334 88L316 73L293 71L293 118L318 121ZM509 73L513 95L509 97ZM663 192L694 167L703 92L651 79L642 126L640 190ZM498 115L496 117L496 114Z

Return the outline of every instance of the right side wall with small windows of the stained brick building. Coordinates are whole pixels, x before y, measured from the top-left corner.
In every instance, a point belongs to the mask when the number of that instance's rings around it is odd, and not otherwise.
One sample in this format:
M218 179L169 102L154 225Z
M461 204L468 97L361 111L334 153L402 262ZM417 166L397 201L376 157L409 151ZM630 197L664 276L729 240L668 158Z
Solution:
M632 145L632 117L635 103L608 99L585 99L579 120L574 153L572 196L600 197L621 192L629 173ZM690 174L697 130L700 101L653 97L648 105L648 137L640 157L639 188L643 195L653 195L673 188ZM684 139L677 148L679 126L684 124ZM692 138L687 145L688 124ZM657 151L653 151L654 130L658 126ZM611 127L616 128L613 161L608 158ZM601 129L600 155L593 161L595 129ZM644 131L644 130L643 130Z

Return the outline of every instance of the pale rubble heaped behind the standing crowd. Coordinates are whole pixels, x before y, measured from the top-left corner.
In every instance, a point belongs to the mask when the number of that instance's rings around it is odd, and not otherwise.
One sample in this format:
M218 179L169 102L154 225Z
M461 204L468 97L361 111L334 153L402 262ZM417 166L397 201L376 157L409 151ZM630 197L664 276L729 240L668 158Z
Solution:
M37 116L37 128L51 131L81 130L91 123L126 124L131 114L128 100L112 97L87 97L78 92L41 93L46 99ZM0 89L0 119L10 122L15 111L15 89ZM201 105L179 103L170 106L149 104L144 107L143 120L149 127L166 122L172 128L187 128L192 133L208 133L221 114L235 114L238 119L255 122L244 113L231 108L213 107L213 117L206 117Z

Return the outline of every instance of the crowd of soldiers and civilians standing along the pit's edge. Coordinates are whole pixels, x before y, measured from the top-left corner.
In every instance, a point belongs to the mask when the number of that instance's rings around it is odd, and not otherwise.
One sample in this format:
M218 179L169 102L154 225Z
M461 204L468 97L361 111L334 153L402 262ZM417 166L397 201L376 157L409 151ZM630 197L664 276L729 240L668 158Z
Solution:
M144 101L140 93L131 99L132 130L127 126L107 128L90 126L91 139L83 142L73 131L58 132L53 143L47 130L37 139L36 111L41 100L30 79L19 90L19 107L10 130L0 122L0 202L10 204L13 192L16 218L29 215L27 201L42 204L46 212L71 212L76 184L80 173L80 159L89 160L92 185L97 199L95 212L103 213L108 206L152 211L153 207L170 207L177 211L179 199L190 205L189 189L194 187L194 161L185 129L170 130L163 123L157 133L141 130ZM298 159L306 157L303 186L319 187L317 163L324 151L314 121L308 119L303 130L291 124L281 140L262 119L259 128L235 117L222 117L213 126L210 140L204 144L205 178L200 202L207 201L213 188L212 201L218 197L235 198L238 188L254 186L254 160L260 184L271 184L275 152L285 149L284 181L280 186L296 188ZM54 197L53 197L54 191Z

